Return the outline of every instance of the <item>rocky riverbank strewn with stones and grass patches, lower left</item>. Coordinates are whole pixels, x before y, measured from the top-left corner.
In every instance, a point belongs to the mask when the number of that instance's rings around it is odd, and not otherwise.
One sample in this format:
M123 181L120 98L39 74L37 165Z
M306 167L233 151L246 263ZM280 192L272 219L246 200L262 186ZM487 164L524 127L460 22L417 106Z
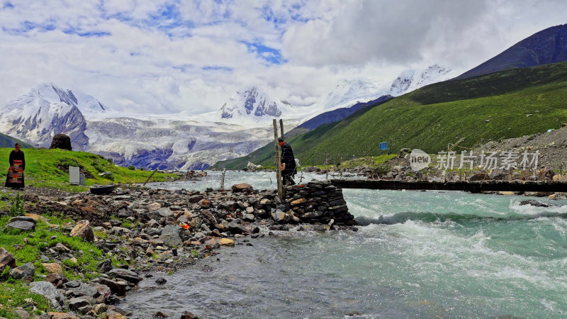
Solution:
M310 184L325 197L320 184ZM5 259L11 260L1 269L2 279L34 281L30 291L49 304L25 304L21 310L43 312L42 318L63 318L53 311L67 310L71 314L64 318L104 313L123 318L127 313L114 305L135 289L145 272L174 272L198 259L212 258L220 247L245 245L248 237L278 231L356 230L339 225L340 218L335 218L336 223L333 219L333 210L346 216L344 201L329 206L325 214L330 217L318 223L327 208L309 215L313 210L305 211L305 205L315 202L299 194L307 189L296 189L288 196L291 200L279 203L276 191L260 192L247 184L202 192L125 186L106 196L28 188L21 211L26 216L6 212L0 220L0 246L6 250ZM340 194L335 186L329 191L330 199L337 201ZM20 272L26 276L15 275ZM1 315L18 318L9 310Z

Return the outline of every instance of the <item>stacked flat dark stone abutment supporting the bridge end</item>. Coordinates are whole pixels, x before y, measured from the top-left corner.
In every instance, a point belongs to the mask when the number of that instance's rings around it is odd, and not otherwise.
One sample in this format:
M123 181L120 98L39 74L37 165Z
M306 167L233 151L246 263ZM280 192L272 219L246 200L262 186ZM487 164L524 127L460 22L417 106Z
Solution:
M356 225L349 213L342 189L330 181L314 181L286 188L286 200L276 213L287 212L294 220L302 223L334 223ZM292 212L290 212L292 211ZM280 213L281 214L281 213ZM279 216L274 219L279 220Z

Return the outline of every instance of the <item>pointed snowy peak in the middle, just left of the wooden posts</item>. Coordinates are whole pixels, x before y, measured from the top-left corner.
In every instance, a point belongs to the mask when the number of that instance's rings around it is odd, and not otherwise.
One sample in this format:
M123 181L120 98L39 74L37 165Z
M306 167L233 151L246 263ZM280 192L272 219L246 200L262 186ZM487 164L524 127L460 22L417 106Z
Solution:
M281 110L286 107L285 103L269 99L257 86L252 86L250 89L232 94L218 111L218 118L230 122L264 121L266 118L281 116Z

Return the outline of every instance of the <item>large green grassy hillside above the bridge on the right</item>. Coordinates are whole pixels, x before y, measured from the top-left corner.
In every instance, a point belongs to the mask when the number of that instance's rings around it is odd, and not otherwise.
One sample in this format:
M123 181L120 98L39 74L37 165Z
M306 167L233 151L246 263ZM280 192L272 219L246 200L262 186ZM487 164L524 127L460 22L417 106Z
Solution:
M561 62L425 86L289 142L302 164L333 164L377 155L383 141L391 152L409 147L437 153L461 139L459 145L472 147L566 122L567 62Z

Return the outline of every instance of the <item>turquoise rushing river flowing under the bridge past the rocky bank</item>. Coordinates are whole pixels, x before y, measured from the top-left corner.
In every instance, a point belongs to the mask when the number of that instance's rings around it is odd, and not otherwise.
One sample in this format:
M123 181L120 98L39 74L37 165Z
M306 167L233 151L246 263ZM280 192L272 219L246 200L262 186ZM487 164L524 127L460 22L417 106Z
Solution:
M273 175L228 172L225 185L271 189ZM218 172L152 184L219 185ZM544 208L520 206L525 196L360 189L344 197L364 224L358 232L247 239L253 246L154 273L167 284L145 279L120 306L132 318L184 310L201 318L567 317L567 201L537 198L554 205Z

